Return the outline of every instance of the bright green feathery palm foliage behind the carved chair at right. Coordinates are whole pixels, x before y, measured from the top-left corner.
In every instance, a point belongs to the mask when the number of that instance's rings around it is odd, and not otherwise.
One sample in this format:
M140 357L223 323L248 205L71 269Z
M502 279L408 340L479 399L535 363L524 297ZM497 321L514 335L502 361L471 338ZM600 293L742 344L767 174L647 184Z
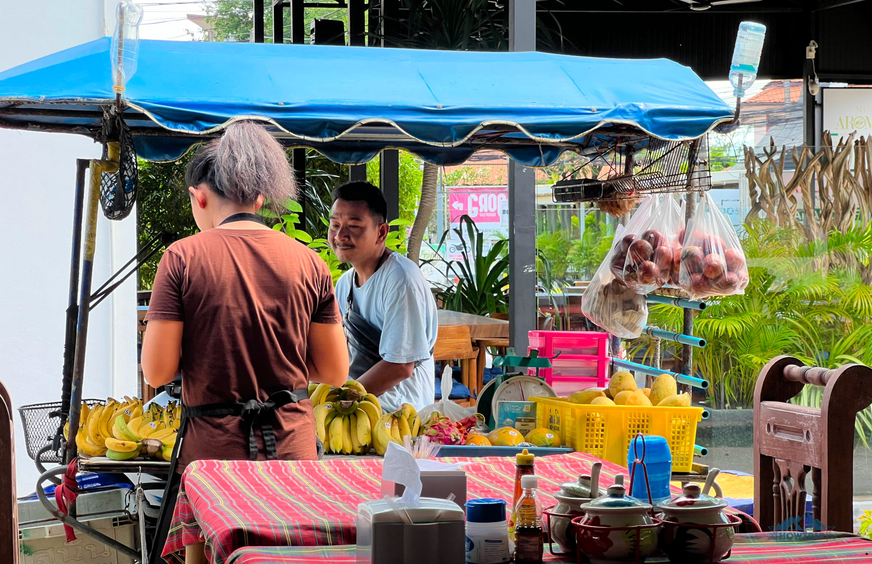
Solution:
M694 334L706 340L693 362L712 386L714 407L749 407L760 369L772 357L789 354L807 364L835 367L846 362L872 364L872 299L855 269L872 255L863 230L833 233L814 251L800 245L789 229L766 221L747 224L742 234L750 282L743 296L707 300L698 312ZM841 241L853 241L850 245ZM827 264L828 268L817 265ZM649 324L680 330L682 312L651 306ZM634 342L637 352L651 355L651 341ZM680 347L663 343L680 357ZM813 392L804 398L814 399ZM801 398L800 398L801 399Z

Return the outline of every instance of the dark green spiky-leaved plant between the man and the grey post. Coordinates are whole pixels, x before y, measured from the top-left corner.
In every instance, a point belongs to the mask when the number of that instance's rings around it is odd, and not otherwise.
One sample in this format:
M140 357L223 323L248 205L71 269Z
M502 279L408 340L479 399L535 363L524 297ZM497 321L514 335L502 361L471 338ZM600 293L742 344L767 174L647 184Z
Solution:
M459 228L453 230L463 245L460 261L438 258L422 261L422 264L441 264L446 279L457 282L439 289L436 295L445 309L462 311L477 316L508 311L508 240L493 241L491 248L484 250L485 236L468 215L460 216ZM466 233L464 233L466 232ZM443 248L450 230L442 234L437 248ZM437 267L439 268L439 267Z

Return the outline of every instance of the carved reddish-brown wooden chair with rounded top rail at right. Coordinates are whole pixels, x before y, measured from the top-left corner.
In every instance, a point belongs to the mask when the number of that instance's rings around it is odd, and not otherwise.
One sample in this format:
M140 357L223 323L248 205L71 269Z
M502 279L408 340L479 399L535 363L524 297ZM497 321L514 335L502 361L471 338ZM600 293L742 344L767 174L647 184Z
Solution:
M824 386L821 409L788 404L804 384ZM812 472L815 520L852 533L854 422L872 404L872 368L769 361L754 390L754 517L763 530L805 527L806 477Z

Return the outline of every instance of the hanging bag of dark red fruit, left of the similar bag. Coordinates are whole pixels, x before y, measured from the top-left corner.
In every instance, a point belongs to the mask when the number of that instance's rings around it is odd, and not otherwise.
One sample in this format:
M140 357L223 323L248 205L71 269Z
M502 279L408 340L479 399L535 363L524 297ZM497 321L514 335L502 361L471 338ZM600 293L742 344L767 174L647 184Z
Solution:
M671 194L646 196L611 253L612 274L638 294L669 283L681 225L681 209Z

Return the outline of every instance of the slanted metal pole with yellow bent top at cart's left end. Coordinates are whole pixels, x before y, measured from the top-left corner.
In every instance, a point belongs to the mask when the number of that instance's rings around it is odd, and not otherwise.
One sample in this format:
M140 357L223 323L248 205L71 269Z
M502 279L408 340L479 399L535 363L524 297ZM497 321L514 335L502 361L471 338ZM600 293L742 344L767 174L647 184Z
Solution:
M70 438L66 442L64 464L76 458L76 432L82 411L82 380L85 376L85 347L88 340L88 318L91 312L91 281L94 274L94 246L97 238L97 209L100 200L100 180L103 173L118 170L119 144L107 144L107 159L91 161L91 179L88 190L88 211L85 216L85 254L82 260L82 285L78 293L78 321L76 323L76 351L73 357L70 387Z

